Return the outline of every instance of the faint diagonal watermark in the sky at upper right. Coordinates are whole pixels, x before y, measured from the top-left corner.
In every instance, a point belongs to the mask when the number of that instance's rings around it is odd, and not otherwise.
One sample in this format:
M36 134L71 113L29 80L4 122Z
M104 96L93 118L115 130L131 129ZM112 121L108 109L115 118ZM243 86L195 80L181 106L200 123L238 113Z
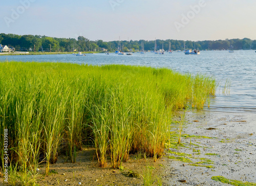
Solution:
M186 14L181 14L182 18L180 22L178 21L174 22L176 30L180 32L181 28L184 28L187 24L189 24L190 20L194 19L196 15L200 13L201 8L206 7L206 5L207 4L205 0L200 0L197 5L194 5L194 6L190 5L189 6L190 10Z

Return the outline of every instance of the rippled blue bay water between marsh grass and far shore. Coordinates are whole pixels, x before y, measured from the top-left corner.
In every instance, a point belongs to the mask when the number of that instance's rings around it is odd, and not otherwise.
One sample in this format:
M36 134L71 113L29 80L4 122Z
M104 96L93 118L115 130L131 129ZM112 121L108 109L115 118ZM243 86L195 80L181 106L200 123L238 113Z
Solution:
M167 67L174 71L190 74L205 74L214 77L220 86L216 98L211 99L210 108L205 110L218 112L256 113L256 53L254 51L207 51L200 55L172 53L157 55L154 53L122 56L111 53L87 54L87 56L63 55L24 55L0 56L0 61L49 61L71 62L79 64L128 64L152 67ZM223 94L226 80L230 81L228 91Z

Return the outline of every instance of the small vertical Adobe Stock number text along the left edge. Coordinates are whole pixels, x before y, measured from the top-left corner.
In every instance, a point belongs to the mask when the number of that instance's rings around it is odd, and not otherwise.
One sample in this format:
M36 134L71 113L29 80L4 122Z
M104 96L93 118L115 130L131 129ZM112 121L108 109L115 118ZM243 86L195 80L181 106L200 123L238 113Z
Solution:
M4 182L8 183L8 129L4 129Z

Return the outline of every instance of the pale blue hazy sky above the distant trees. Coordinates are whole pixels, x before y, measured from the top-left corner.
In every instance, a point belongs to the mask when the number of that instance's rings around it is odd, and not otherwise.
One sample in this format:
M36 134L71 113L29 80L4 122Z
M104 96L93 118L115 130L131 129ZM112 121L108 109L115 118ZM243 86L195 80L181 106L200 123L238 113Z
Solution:
M256 39L255 0L2 1L0 33L90 40Z

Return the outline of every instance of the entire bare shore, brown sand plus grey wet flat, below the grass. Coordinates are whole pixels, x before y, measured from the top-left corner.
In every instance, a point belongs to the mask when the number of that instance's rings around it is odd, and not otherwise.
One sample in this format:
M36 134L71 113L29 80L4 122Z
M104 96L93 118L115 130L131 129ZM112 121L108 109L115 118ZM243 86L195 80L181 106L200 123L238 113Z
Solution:
M84 148L74 164L65 163L64 158L59 158L57 164L51 166L53 174L48 177L40 176L38 183L143 185L142 176L145 175L146 166L151 167L154 185L157 185L157 178L160 178L162 185L229 185L212 180L212 176L256 182L256 114L187 112L186 121L189 124L184 128L184 134L209 137L182 137L181 142L186 147L169 149L190 154L186 158L191 162L168 158L179 157L173 152L166 153L157 162L153 162L151 158L145 159L143 155L131 155L130 160L123 164L122 170L112 169L110 160L108 167L101 169L97 166L94 149ZM207 130L208 128L215 129ZM199 161L201 164L197 164ZM129 171L137 173L139 177L127 177ZM39 172L43 173L44 168L41 167Z

